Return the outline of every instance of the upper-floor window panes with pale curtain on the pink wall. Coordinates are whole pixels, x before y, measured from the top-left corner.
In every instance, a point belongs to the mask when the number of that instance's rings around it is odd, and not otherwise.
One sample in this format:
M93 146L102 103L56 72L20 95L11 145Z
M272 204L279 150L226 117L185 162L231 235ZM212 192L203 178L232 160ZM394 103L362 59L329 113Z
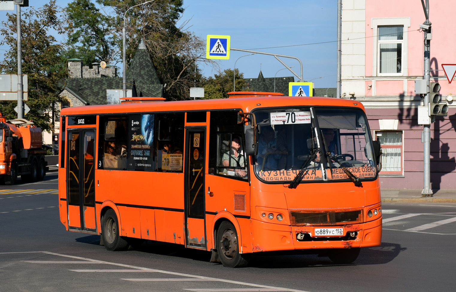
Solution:
M404 26L378 27L378 73L402 73Z

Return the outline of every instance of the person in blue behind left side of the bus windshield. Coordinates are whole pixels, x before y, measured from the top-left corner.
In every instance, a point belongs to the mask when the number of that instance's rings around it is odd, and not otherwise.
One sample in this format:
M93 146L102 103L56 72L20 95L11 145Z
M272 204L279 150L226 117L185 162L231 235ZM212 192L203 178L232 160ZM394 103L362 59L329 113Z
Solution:
M262 126L258 139L257 166L260 171L278 170L282 152L277 149L277 138L271 126Z

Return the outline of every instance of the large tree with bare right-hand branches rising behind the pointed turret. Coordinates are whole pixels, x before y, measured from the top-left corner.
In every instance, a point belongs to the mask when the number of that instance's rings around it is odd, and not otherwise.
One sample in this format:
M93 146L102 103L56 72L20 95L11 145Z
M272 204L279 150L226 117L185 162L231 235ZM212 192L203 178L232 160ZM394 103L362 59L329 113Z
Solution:
M127 64L133 58L140 39L145 40L157 74L166 84L165 97L189 99L190 87L195 86L195 80L198 83L202 80L197 63L218 66L216 60L206 59L205 40L188 30L190 20L177 26L184 12L182 0L155 0L131 9L140 3L136 0L98 1L113 8L116 14L114 33L121 32L125 25ZM114 38L121 40L119 36Z

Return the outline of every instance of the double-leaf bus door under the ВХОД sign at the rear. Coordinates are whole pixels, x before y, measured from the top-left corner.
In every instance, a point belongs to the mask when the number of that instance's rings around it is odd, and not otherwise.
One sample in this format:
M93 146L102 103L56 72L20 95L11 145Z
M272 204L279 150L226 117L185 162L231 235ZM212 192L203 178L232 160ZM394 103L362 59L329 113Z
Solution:
M68 229L96 232L95 131L68 131L67 137Z

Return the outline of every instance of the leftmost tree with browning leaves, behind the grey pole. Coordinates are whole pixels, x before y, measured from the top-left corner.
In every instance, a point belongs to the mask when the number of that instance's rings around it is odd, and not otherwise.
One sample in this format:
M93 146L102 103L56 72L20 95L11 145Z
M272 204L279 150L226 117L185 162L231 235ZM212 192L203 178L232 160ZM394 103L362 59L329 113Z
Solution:
M32 120L43 130L52 129L51 118L43 113L52 109L52 104L65 100L59 96L58 85L68 77L66 64L61 62L63 46L58 44L50 30L58 34L64 32L63 20L58 17L60 7L50 0L49 4L35 10L33 7L21 12L22 33L22 73L28 74L28 100L31 109L26 118ZM2 22L0 34L4 36L0 45L10 47L5 53L5 60L0 65L2 73L17 74L16 14L7 13L7 21ZM16 118L14 111L17 102L0 102L0 112L6 118Z

